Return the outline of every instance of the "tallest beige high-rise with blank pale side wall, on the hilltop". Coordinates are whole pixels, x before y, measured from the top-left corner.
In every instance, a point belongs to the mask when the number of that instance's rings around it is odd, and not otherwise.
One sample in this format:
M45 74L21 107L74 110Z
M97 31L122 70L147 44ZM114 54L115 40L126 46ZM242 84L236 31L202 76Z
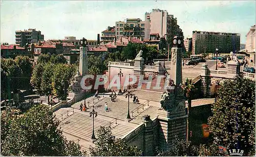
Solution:
M151 13L145 13L145 39L150 38L150 34L158 33L160 37L165 37L170 47L175 35L183 36L183 32L177 25L177 18L169 15L166 10L153 9Z

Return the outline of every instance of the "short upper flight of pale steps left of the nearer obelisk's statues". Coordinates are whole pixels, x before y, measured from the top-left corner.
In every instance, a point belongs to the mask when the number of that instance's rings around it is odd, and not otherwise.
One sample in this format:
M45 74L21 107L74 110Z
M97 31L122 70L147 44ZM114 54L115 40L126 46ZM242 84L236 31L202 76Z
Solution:
M156 101L156 102L160 102L161 95L162 95L162 93L160 92L145 91L145 90L139 90L139 89L134 91L133 94L138 96L139 100L145 99L145 100Z

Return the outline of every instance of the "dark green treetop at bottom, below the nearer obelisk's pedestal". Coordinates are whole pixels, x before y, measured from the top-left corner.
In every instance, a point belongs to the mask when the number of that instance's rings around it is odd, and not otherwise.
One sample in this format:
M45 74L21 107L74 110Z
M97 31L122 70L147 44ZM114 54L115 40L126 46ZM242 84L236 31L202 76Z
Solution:
M198 146L190 141L180 140L176 135L172 142L173 146L167 151L160 151L157 156L198 156Z

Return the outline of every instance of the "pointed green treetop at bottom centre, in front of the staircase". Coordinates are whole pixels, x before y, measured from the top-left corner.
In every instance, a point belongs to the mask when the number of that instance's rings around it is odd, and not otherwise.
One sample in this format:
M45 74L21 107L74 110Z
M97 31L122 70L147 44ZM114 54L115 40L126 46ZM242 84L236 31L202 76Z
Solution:
M116 139L110 127L100 127L95 147L90 146L92 156L141 156L142 151L128 146L121 139Z

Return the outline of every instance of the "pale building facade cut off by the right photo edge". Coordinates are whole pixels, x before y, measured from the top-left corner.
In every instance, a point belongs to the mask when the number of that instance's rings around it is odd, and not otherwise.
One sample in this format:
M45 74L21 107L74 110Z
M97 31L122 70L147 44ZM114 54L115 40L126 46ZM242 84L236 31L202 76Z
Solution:
M255 25L246 34L245 49L247 52L255 52Z

